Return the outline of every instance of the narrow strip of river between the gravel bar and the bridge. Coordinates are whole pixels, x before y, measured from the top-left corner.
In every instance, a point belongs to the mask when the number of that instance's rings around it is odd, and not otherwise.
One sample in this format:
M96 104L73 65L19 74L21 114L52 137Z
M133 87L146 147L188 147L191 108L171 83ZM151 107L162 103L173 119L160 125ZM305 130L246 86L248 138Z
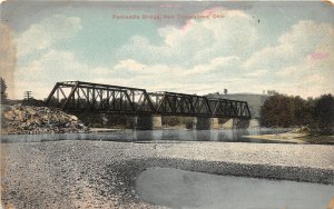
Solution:
M287 129L217 129L217 130L115 130L110 132L90 133L43 133L43 135L7 135L1 136L2 142L38 142L55 140L99 140L99 141L229 141L229 142L273 142L263 139L248 139L244 136L282 133Z

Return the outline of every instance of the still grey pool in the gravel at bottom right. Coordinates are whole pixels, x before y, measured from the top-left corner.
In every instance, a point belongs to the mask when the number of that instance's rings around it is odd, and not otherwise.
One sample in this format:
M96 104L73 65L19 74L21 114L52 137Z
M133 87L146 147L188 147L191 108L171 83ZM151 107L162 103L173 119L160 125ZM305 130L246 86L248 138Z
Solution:
M333 185L215 176L155 168L136 179L140 199L170 208L327 208Z

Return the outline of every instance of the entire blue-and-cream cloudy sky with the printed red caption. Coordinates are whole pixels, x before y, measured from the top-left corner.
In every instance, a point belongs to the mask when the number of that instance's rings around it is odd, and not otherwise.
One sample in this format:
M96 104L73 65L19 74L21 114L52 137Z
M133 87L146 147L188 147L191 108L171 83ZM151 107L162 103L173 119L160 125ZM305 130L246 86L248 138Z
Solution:
M327 2L4 1L0 72L9 98L57 81L206 94L334 93Z

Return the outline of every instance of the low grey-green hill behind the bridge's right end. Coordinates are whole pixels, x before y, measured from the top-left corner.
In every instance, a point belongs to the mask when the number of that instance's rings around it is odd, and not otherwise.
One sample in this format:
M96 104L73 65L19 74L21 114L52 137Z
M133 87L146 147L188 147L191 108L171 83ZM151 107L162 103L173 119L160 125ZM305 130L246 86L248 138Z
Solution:
M268 94L252 94L252 93L233 93L233 94L222 94L222 93L208 93L208 98L222 98L222 99L233 99L247 101L252 118L259 118L261 107L265 100L269 97Z

